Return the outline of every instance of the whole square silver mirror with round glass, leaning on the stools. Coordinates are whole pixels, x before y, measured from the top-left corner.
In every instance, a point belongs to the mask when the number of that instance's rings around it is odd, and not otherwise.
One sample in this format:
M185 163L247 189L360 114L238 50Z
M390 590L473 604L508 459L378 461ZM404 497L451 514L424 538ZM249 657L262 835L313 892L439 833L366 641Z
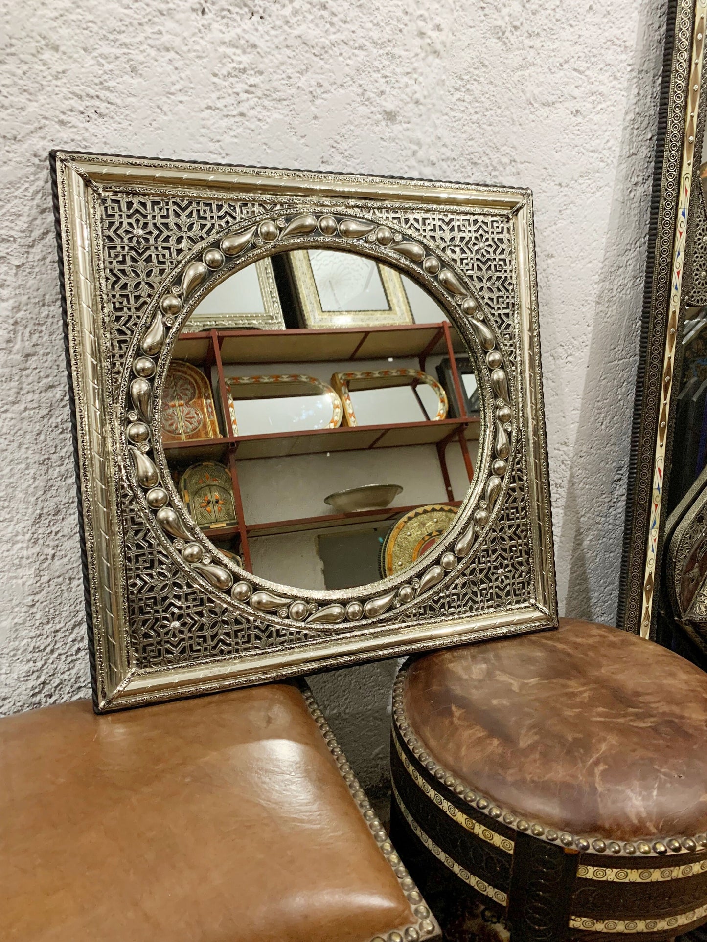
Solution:
M52 166L97 708L556 624L527 190Z

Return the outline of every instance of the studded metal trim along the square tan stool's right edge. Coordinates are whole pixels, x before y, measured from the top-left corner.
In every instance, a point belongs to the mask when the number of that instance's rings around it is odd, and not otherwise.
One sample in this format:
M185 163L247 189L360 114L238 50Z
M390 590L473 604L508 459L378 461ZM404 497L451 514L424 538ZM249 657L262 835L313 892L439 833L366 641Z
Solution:
M349 788L363 820L365 820L370 827L370 831L381 853L384 854L386 861L397 877L398 883L410 905L411 915L415 918L415 921L411 924L393 930L385 936L375 935L371 939L371 942L420 942L422 939L433 942L440 934L436 918L432 915L429 907L422 899L422 894L411 879L407 869L403 867L403 861L398 854L395 853L395 848L388 838L381 820L370 806L366 792L361 788L354 771L349 765L346 756L343 754L343 750L338 745L337 739L331 727L326 722L326 717L321 712L321 707L317 703L314 694L304 681L300 682L299 688L304 697L304 703L307 709L314 719L314 722L317 723L320 728L321 735L326 742L329 752L334 756L339 774Z

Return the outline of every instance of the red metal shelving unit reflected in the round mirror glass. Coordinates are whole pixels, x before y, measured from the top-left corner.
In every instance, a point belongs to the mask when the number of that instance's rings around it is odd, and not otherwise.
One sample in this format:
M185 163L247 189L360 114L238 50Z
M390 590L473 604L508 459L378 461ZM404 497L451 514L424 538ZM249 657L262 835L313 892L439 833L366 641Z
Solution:
M435 445L447 503L458 507L446 460L446 450L452 441L461 448L469 482L473 478L473 465L467 441L478 438L479 419L469 416L464 409L464 397L456 368L454 354L463 350L456 331L448 321L438 324L405 324L395 327L343 328L334 330L240 331L212 330L200 333L182 333L176 342L173 356L206 367L215 365L218 374L222 418L226 434L218 439L170 443L165 452L177 459L225 460L233 481L237 527L209 528L205 532L213 539L238 535L240 552L245 568L253 572L249 535L266 536L303 529L323 529L346 526L351 523L380 523L392 520L414 510L414 507L386 508L384 511L327 514L304 517L299 520L278 520L270 523L247 524L238 484L238 463L257 458L288 457L331 451L370 450L386 447ZM459 418L437 421L404 422L396 425L347 426L338 429L317 429L275 432L262 435L234 435L228 409L223 364L276 364L348 360L373 360L396 357L417 357L424 372L429 356L444 353L449 356L452 382L459 407ZM421 406L421 403L420 403ZM424 414L424 409L422 408Z

